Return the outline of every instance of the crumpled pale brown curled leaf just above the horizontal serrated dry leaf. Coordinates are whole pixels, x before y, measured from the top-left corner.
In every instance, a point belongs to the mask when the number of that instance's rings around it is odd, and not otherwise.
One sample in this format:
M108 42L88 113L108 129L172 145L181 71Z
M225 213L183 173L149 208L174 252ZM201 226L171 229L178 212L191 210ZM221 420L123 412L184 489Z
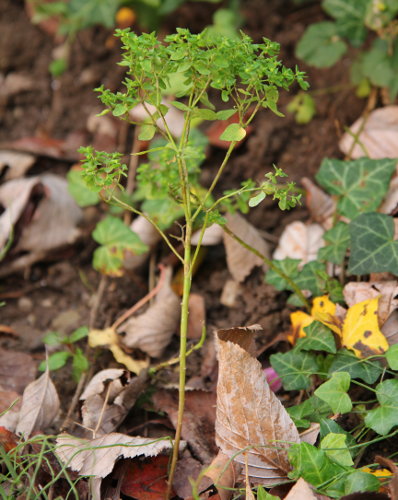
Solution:
M95 429L97 436L114 431L146 387L146 380L145 370L134 378L117 368L98 372L80 396L83 426Z

